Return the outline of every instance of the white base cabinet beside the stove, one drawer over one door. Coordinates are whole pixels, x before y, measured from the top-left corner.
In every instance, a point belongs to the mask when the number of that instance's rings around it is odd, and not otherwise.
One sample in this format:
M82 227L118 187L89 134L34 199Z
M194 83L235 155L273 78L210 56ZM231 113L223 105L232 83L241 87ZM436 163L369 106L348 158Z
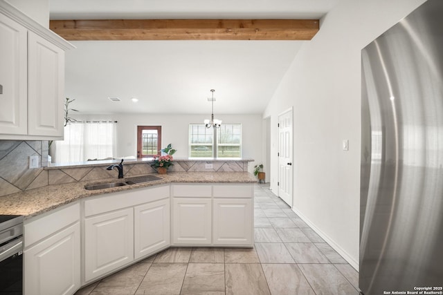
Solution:
M80 288L80 206L24 225L24 294L68 295Z

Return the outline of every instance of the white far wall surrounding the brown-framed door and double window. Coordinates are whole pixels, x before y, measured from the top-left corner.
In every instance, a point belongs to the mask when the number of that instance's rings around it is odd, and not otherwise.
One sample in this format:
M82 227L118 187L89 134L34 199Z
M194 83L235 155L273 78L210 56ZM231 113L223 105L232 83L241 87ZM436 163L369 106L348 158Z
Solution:
M75 115L78 120L116 120L117 157L136 156L137 126L161 126L161 142L165 147L172 144L177 158L188 158L189 124L202 124L207 115L155 115L155 114L116 114L116 115ZM242 124L242 157L262 162L262 116L261 115L215 115L223 124ZM249 170L255 163L249 164Z

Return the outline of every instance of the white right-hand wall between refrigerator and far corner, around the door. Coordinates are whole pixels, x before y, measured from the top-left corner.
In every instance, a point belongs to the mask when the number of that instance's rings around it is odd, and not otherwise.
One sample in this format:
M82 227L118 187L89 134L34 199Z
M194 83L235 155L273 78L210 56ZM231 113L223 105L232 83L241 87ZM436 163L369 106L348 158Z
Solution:
M266 107L293 106L293 209L355 268L359 264L361 49L424 0L349 0L303 45ZM341 148L349 140L349 151ZM271 189L277 189L277 129L271 129Z

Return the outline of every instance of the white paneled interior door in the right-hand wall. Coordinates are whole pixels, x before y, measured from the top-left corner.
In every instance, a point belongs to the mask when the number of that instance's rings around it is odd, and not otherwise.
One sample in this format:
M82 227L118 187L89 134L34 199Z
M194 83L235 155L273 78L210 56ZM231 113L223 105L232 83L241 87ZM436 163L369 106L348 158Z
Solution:
M278 116L278 196L292 207L292 109Z

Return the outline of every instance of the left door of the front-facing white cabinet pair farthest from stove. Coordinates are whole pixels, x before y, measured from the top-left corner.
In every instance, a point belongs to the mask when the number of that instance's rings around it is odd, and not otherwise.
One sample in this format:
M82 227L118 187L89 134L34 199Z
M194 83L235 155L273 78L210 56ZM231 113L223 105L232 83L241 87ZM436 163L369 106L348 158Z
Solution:
M174 198L173 235L175 245L211 243L211 200Z

